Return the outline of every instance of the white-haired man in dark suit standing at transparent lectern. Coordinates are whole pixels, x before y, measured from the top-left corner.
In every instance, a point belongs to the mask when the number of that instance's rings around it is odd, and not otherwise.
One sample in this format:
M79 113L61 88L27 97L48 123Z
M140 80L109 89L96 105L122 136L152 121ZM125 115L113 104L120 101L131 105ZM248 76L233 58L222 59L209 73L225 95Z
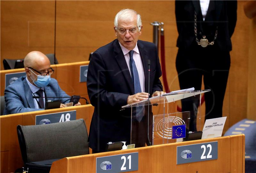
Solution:
M141 18L136 11L119 11L114 20L117 39L92 54L87 90L95 107L89 134L89 147L93 153L104 152L108 142L126 141L130 144L131 109L120 111L122 106L148 99L148 94L164 94L159 80L162 71L156 45L138 40L141 29ZM143 147L148 141L148 113L144 107L143 110L136 108L135 114L132 126L142 128L137 129L138 136L132 138L140 140L135 147ZM137 117L137 114L140 115Z

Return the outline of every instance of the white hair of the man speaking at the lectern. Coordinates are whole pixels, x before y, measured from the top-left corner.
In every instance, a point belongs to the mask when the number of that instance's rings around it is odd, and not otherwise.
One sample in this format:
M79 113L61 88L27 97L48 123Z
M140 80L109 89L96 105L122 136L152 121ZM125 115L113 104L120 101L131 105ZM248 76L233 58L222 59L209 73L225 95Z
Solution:
M117 30L118 27L118 20L119 19L131 19L133 16L133 14L137 14L137 26L139 28L139 31L141 30L141 18L140 18L140 14L138 14L136 11L132 10L132 9L123 9L121 11L119 11L116 14L115 20L114 20L114 25L115 25L115 29Z

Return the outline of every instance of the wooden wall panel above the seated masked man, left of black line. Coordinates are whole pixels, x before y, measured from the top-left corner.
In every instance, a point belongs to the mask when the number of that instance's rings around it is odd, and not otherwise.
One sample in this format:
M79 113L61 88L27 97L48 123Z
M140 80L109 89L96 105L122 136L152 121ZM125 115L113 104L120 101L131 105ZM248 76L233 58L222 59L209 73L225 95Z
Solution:
M5 58L54 52L54 13L54 1L1 1L1 70Z

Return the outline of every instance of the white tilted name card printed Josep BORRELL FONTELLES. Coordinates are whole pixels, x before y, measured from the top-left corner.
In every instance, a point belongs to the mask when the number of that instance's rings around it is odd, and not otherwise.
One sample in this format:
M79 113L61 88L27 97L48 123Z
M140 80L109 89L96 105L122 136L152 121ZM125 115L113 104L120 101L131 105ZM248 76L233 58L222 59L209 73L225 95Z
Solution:
M205 120L202 139L221 137L227 117Z

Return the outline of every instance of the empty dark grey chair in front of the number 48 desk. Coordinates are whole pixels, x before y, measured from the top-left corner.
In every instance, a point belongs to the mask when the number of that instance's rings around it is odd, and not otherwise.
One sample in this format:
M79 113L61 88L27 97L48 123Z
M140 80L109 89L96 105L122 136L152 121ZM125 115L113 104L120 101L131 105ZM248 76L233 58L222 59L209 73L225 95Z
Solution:
M17 126L24 170L50 172L52 162L89 154L84 119L61 123Z

